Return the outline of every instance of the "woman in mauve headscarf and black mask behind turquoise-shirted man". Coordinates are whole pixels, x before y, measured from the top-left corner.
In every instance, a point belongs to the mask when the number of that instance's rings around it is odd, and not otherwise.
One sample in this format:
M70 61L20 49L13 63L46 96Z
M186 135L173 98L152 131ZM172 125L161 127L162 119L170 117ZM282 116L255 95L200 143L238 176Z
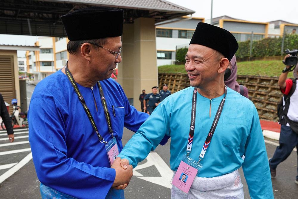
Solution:
M237 91L244 97L249 98L247 88L243 85L239 85L236 80L237 80L237 61L236 61L236 56L234 55L224 74L224 83L229 88L233 89L234 91Z

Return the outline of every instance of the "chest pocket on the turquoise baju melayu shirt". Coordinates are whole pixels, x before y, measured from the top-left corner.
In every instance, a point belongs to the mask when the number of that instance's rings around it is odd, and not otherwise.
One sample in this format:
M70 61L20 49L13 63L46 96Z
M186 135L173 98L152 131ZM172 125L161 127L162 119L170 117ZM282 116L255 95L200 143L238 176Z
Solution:
M221 140L226 146L239 146L248 135L249 119L224 117Z

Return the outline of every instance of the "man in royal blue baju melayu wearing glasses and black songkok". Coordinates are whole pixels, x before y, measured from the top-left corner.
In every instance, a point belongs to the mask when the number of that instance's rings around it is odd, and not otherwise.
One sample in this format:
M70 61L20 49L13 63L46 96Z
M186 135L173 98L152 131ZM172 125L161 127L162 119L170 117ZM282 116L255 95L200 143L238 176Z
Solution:
M124 198L132 167L122 169L116 158L123 128L136 132L148 114L110 78L122 60L123 10L88 7L61 19L69 60L38 83L28 115L41 196Z

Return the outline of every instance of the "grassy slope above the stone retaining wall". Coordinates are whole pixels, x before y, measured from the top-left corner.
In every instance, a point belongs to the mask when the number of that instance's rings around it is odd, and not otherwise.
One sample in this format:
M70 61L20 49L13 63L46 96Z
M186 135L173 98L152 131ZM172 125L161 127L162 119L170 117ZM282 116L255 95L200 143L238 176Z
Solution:
M285 65L281 61L244 61L238 62L238 75L279 77ZM165 65L158 67L160 73L186 73L184 65ZM290 75L291 74L291 75ZM291 72L288 78L293 78Z

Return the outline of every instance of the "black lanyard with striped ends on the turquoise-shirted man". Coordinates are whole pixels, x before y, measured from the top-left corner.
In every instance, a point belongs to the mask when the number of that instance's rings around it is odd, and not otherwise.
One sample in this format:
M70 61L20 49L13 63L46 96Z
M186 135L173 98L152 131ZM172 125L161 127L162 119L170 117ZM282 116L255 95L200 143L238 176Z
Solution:
M219 120L219 118L221 116L221 111L222 111L222 109L224 107L224 102L226 100L226 94L227 94L227 88L225 86L225 97L221 100L221 103L218 106L217 114L214 117L213 124L212 124L212 126L211 126L211 128L209 130L209 133L207 135L207 138L206 138L206 140L204 142L204 145L203 145L203 148L201 150L201 153L200 153L200 157L199 157L199 161L198 162L201 161L201 158L202 159L204 158L204 155L206 153L206 150L207 150L207 148L208 148L208 146L210 144L211 138L214 135L216 126L218 124L218 120ZM188 142L187 142L187 148L186 148L187 156L190 154L191 147L193 145L193 134L195 132L196 99L197 99L197 89L194 88L194 90L193 90L193 108L192 108L192 113L191 113L190 130L189 130L189 136L188 136Z

